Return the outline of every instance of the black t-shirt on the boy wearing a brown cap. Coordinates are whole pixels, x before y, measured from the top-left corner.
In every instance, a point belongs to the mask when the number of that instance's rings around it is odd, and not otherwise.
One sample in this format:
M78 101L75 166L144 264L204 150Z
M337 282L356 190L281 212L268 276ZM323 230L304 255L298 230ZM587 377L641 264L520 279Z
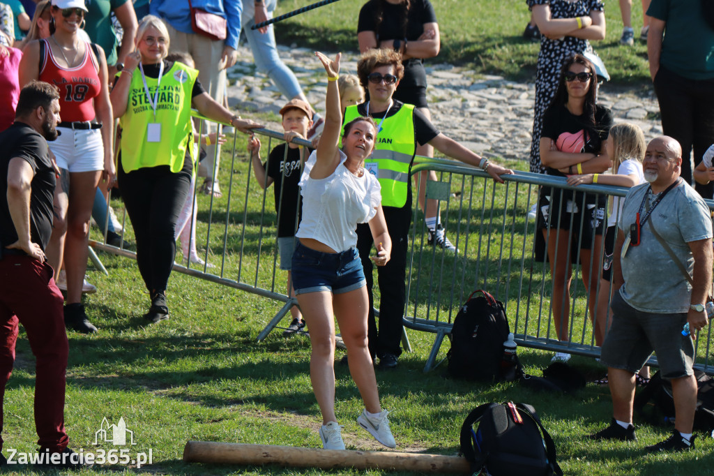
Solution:
M278 216L278 237L289 238L295 235L296 223L295 218L298 213L298 202L300 200L300 175L302 174L302 164L300 160L301 148L293 149L287 147L288 144L280 144L276 146L268 156L268 162L263 164L266 166L266 174L273 179L273 192L275 193L275 211L280 213ZM285 155L285 149L288 149L288 155ZM312 149L305 150L305 159L308 158ZM284 159L284 162L283 162ZM283 168L285 172L283 174ZM285 183L283 184L283 177ZM281 187L283 187L283 200L281 208ZM300 223L298 216L298 224Z

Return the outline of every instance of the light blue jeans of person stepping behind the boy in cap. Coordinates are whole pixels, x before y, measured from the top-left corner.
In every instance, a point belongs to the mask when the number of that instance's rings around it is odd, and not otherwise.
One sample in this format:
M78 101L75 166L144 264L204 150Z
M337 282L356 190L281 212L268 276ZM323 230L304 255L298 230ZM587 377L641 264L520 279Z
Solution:
M273 18L273 11L276 7L275 0L268 0L266 8L268 9L268 19ZM258 71L270 76L280 92L287 99L293 99L295 96L300 96L303 89L298 83L293 71L280 59L278 49L275 43L275 25L268 28L268 32L263 34L258 30L251 30L251 26L256 24L254 18L243 24L243 32L248 39L248 45L253 51L253 61L258 66Z

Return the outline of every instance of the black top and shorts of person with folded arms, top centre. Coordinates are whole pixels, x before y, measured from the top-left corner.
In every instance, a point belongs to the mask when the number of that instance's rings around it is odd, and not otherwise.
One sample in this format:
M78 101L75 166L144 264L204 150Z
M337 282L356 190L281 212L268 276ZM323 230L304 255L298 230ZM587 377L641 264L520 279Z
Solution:
M382 21L377 26L378 7L382 8ZM436 23L434 7L429 0L411 0L407 14L406 28L403 25L404 9L401 4L390 4L385 0L370 0L362 6L357 22L357 33L375 31L377 44L388 39L416 41L424 32L424 24ZM426 71L421 58L404 61L403 86L426 86Z

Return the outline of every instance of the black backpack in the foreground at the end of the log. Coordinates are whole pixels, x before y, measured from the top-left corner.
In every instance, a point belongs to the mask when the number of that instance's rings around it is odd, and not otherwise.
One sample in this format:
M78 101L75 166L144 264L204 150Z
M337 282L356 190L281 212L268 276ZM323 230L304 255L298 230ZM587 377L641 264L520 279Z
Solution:
M469 413L461 426L461 452L474 475L563 475L553 439L524 403L486 403Z

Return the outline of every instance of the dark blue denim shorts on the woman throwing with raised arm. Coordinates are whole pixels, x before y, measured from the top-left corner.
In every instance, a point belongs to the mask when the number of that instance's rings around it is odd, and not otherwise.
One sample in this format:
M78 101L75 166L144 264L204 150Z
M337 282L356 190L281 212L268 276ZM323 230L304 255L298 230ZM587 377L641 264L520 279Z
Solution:
M323 253L298 241L292 267L296 295L321 291L342 294L366 286L355 247L341 253Z

